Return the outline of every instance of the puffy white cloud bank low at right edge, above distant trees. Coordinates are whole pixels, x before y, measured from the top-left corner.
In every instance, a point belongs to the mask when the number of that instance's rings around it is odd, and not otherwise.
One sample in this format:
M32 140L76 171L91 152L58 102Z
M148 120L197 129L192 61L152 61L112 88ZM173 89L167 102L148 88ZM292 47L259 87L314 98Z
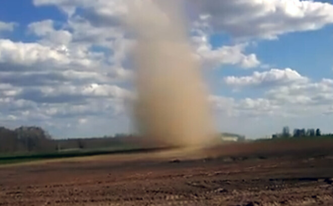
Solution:
M331 114L333 80L322 79L314 82L292 70L289 70L290 74L286 74L288 69L274 71L256 72L257 75L248 77L226 78L229 84L235 87L271 86L265 87L260 98L233 99L232 115L296 118Z

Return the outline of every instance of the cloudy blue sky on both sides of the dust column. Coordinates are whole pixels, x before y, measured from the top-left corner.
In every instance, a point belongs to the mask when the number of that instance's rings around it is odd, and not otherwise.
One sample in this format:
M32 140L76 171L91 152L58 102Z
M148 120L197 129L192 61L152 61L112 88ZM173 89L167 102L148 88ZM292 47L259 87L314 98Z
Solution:
M1 0L0 124L40 125L56 138L131 131L125 2ZM333 132L330 1L184 2L220 131Z

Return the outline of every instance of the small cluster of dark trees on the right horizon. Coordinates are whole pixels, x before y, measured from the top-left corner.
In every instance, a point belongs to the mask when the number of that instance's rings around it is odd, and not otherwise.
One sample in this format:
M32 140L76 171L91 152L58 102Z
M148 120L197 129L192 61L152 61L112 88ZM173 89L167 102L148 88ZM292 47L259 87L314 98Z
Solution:
M305 136L321 136L321 130L319 128L314 129L314 128L295 128L293 133L290 132L290 129L288 126L283 127L282 132L281 133L277 133L277 134L273 134L272 138L276 139L276 138L301 138L301 137L305 137ZM326 134L325 134L326 135Z

